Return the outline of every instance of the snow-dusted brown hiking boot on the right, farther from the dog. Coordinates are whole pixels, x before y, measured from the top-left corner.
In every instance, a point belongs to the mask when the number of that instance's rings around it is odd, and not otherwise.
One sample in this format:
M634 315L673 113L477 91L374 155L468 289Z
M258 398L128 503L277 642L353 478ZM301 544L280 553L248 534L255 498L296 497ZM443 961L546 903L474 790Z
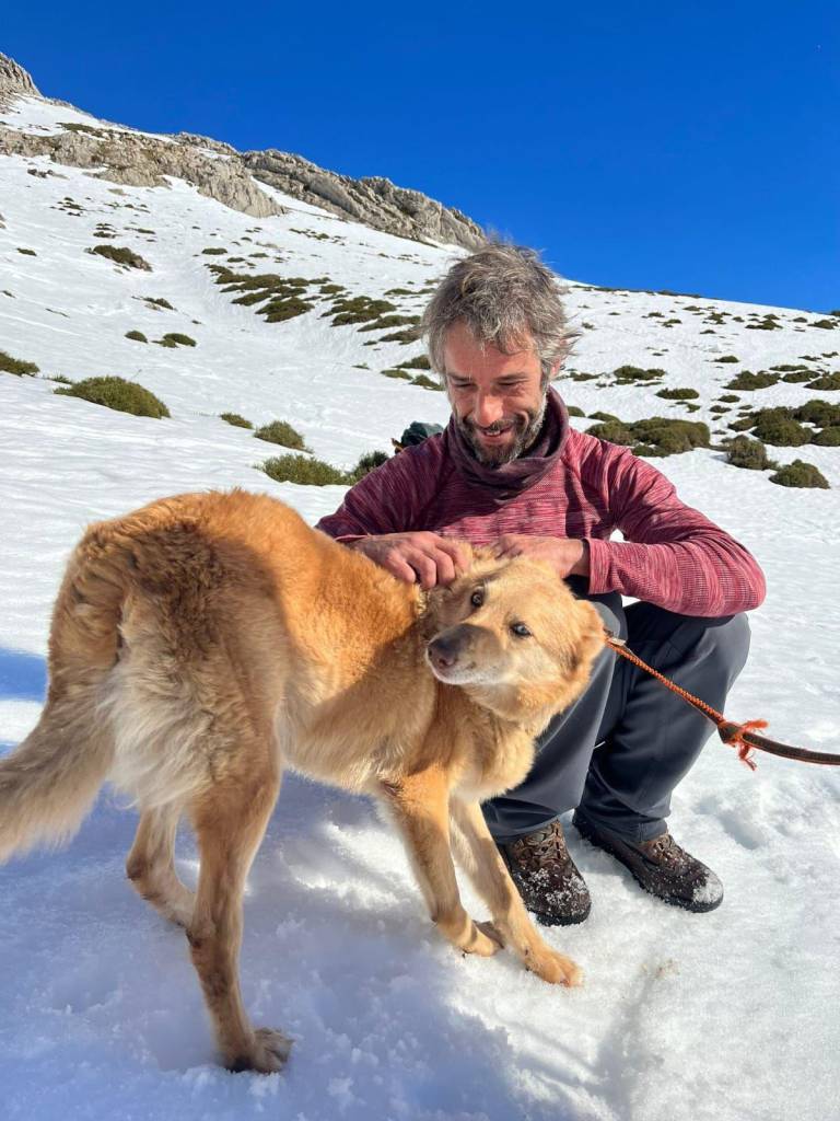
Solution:
M628 841L589 821L579 809L572 824L590 844L610 853L642 884L666 904L690 911L709 911L724 899L724 884L699 860L681 849L665 830L652 841Z

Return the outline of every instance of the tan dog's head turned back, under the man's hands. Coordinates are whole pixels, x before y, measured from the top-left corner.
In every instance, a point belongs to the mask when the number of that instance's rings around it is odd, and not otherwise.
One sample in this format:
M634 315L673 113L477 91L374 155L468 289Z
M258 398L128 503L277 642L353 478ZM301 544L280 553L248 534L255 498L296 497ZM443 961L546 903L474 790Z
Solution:
M604 645L600 617L550 567L477 554L429 597L427 659L435 676L500 711L564 708ZM554 701L557 704L554 705Z

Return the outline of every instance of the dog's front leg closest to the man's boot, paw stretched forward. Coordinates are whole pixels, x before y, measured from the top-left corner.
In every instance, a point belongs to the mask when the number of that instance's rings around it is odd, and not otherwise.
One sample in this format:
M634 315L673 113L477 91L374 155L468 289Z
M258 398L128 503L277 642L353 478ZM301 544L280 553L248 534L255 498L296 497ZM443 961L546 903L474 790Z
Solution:
M505 943L523 963L552 984L580 984L582 973L569 957L547 946L531 921L496 843L489 834L484 814L475 802L451 799L452 821L463 835L464 868L476 891L491 909L493 924ZM458 849L456 847L456 852ZM458 852L461 855L461 852Z

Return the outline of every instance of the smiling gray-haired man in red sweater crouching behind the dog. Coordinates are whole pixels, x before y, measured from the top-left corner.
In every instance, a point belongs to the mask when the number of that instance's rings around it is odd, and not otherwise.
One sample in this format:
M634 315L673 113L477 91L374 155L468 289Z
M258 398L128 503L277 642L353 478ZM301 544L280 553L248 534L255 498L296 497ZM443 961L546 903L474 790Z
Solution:
M569 427L550 388L570 341L557 277L530 250L491 244L450 269L424 330L451 404L447 429L358 482L318 528L427 589L465 567L459 538L548 560L631 649L722 708L764 577L650 463ZM616 529L624 540L609 539ZM638 602L625 609L622 595ZM708 735L704 716L605 648L585 694L538 741L525 781L484 807L541 921L589 914L558 821L568 809L647 891L691 911L719 906L719 879L664 821Z

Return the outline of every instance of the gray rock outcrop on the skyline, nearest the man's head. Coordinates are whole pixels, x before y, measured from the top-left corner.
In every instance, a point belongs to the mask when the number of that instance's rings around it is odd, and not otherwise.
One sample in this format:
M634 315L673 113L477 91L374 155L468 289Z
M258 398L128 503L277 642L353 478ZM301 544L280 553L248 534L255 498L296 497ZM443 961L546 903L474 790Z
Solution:
M475 249L485 241L480 226L460 211L444 206L419 191L398 187L390 179L353 179L274 148L245 152L242 159L262 183L374 230L466 249Z

